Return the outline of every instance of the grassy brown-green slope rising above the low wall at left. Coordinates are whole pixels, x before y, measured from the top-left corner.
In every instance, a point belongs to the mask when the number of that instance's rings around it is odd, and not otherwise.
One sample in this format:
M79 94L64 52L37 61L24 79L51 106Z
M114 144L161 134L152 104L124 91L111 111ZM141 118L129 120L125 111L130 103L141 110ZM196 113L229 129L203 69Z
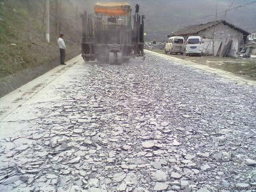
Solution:
M0 1L0 78L59 57L56 44L59 31L55 30L54 12L51 10L51 42L48 44L45 40L44 1L28 2L29 4L25 0ZM51 9L54 9L53 3ZM68 20L62 22L60 31L65 34L67 57L80 49L74 38L79 30L72 30L73 23Z

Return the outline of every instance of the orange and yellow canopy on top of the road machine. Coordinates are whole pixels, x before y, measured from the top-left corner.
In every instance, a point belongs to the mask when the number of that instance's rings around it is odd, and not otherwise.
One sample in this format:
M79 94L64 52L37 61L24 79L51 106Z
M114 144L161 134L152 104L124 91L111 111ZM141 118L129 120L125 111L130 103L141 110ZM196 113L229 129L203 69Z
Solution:
M106 16L126 16L131 12L131 5L128 3L96 3L94 7L95 14Z

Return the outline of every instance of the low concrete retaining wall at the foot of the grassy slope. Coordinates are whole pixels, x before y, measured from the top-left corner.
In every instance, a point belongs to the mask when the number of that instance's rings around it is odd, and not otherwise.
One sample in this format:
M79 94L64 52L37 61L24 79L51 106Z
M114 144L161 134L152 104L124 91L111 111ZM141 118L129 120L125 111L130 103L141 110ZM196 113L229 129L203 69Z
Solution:
M70 60L75 56L79 55L81 50L76 50L70 54L66 54L66 60ZM16 74L4 77L0 79L0 97L16 90L22 85L32 81L33 79L41 76L42 74L52 70L60 64L59 57L35 68L28 68L22 70Z

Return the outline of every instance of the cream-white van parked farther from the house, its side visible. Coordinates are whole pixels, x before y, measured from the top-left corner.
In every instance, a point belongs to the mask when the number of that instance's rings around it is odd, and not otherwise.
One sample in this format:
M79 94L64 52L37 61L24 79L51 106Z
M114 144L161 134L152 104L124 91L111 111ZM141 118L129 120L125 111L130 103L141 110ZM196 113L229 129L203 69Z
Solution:
M185 40L183 37L170 37L168 42L165 45L164 52L169 54L178 54L183 55L185 50Z

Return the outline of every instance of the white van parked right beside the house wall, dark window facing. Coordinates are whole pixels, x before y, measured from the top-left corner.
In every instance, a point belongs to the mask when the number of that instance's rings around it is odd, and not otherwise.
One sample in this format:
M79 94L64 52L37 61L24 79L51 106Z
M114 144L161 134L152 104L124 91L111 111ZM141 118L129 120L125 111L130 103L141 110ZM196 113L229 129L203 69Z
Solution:
M190 36L186 42L186 56L199 54L202 56L202 38L200 36Z

